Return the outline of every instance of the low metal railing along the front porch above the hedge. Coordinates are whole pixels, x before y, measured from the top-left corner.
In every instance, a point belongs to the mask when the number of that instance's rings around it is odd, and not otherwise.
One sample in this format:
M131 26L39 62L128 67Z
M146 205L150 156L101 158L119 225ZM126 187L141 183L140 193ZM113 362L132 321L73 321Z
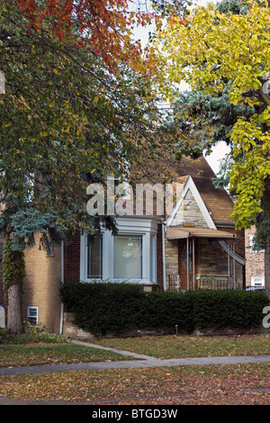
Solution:
M195 275L194 282L189 284L189 290L241 288L241 284L234 281L233 276L230 275ZM179 275L168 275L167 290L169 292L187 291L186 280L181 281Z

